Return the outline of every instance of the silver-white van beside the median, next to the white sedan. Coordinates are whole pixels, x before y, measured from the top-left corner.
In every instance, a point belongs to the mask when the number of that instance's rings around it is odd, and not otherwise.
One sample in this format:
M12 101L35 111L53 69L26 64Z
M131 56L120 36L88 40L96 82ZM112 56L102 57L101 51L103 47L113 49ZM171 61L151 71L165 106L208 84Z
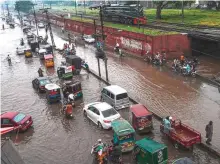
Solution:
M116 110L130 107L127 91L117 85L104 87L101 100L112 105Z

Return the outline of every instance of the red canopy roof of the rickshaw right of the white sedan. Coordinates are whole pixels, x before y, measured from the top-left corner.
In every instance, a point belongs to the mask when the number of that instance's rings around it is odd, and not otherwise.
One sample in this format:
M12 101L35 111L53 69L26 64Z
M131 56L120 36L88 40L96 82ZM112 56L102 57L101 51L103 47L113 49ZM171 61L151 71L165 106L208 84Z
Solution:
M130 110L136 117L152 115L152 113L142 104L132 105Z

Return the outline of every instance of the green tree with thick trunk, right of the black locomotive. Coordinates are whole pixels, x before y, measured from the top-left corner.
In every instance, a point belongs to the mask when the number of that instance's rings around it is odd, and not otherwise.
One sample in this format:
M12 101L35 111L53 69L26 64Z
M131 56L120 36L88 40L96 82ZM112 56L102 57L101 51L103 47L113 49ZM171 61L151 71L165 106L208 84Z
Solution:
M194 0L191 1L183 1L183 5L186 6L188 4L194 3ZM156 5L157 11L156 11L156 19L161 19L161 11L162 9L166 8L168 5L172 5L176 8L180 8L182 6L182 1L153 1L153 3Z

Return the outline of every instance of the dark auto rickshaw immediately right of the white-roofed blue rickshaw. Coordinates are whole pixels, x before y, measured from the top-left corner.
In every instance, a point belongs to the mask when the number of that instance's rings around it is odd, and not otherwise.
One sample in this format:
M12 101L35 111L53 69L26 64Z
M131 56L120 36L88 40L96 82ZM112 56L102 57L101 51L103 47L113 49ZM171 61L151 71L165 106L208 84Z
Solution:
M67 98L67 92L74 94L74 99L81 98L83 96L81 82L67 81L64 83L65 87L62 87L64 97Z

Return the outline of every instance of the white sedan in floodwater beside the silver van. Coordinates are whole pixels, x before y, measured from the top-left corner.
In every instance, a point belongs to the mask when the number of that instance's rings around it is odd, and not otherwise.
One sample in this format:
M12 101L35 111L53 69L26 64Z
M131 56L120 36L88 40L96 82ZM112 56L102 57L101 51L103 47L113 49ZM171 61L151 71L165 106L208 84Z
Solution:
M110 129L112 127L111 122L121 117L121 115L106 102L87 104L83 108L83 112L86 117L103 129Z

